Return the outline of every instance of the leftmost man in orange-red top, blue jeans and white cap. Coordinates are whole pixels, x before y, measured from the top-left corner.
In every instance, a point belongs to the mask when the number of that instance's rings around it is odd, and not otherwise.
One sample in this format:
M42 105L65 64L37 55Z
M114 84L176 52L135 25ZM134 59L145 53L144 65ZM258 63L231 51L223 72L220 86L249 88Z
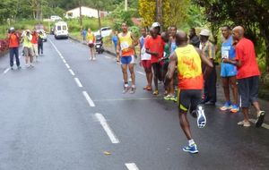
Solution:
M13 70L13 57L15 55L17 68L21 69L20 59L19 59L19 44L20 38L19 35L15 32L15 29L12 27L10 33L8 34L9 41L9 54L10 54L10 67Z

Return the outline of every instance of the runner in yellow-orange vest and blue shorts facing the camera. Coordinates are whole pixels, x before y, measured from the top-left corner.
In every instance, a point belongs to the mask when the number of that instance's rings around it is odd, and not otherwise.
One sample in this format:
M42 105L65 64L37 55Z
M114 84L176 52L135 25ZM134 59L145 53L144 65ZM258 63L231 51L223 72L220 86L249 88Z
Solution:
M124 90L123 93L126 93L129 89L130 93L133 94L135 92L135 74L134 74L134 47L138 44L138 42L134 39L133 34L128 31L128 27L126 22L121 24L122 32L117 35L117 61L119 61L119 54L121 52L121 68L123 72L124 79ZM132 86L129 88L128 85L128 73L127 68L129 67L129 71L131 73Z

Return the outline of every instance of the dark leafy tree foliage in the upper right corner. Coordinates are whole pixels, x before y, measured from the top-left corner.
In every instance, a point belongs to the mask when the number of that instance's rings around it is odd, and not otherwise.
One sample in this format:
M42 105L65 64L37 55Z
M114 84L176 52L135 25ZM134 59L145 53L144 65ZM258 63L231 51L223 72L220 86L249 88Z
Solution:
M246 37L256 45L263 46L265 42L265 64L269 64L268 1L193 0L193 2L204 7L205 18L211 23L213 30L219 30L224 23L241 25L246 30Z

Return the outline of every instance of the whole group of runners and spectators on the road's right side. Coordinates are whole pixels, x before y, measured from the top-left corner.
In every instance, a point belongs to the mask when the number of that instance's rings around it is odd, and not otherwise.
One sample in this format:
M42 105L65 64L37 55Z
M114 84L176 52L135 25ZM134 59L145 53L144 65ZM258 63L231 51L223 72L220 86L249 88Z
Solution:
M258 76L260 72L256 63L253 43L244 38L244 29L236 27L232 31L229 26L221 28L223 44L221 47L221 79L226 102L221 110L239 111L238 88L244 120L239 125L250 126L248 107L250 103L256 107L256 127L260 127L265 119L265 112L257 102ZM231 34L232 33L232 34ZM163 82L164 99L178 102L179 123L187 136L188 145L183 148L189 153L197 153L198 149L190 132L187 113L197 118L197 125L203 128L206 124L204 104L214 105L216 102L216 70L214 65L215 47L209 41L210 31L202 30L200 38L195 29L187 33L176 26L161 32L158 22L152 24L150 35L141 29L139 42L122 23L122 32L117 35L117 61L120 61L124 78L123 93L135 91L134 47L140 45L140 64L144 68L147 84L143 88L159 95L158 85ZM200 49L199 49L200 48ZM129 87L127 69L131 73L132 84ZM152 81L154 89L152 89ZM231 85L234 102L230 102ZM178 90L178 95L175 94Z

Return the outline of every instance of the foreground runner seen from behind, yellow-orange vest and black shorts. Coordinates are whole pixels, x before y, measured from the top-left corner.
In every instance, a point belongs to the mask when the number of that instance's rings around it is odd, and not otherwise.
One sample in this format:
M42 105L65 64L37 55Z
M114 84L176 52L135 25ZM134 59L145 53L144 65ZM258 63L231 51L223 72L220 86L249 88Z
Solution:
M165 81L169 82L173 79L177 66L179 123L188 140L188 145L183 150L189 153L198 153L187 121L187 112L189 111L191 115L197 117L199 128L204 127L206 123L204 106L199 105L204 87L202 61L209 68L213 67L213 64L204 55L201 55L201 50L187 44L187 33L183 30L178 31L176 43L178 48L169 56L169 70Z

